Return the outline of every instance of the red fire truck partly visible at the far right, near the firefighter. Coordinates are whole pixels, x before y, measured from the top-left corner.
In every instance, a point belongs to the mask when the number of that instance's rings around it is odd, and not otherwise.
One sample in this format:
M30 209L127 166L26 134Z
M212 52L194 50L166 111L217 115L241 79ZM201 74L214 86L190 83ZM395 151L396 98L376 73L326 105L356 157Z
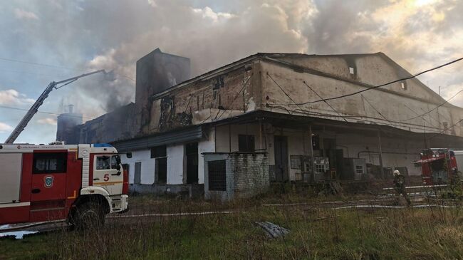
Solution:
M461 175L458 166L463 167L463 151L448 148L422 150L421 164L423 184L448 184Z

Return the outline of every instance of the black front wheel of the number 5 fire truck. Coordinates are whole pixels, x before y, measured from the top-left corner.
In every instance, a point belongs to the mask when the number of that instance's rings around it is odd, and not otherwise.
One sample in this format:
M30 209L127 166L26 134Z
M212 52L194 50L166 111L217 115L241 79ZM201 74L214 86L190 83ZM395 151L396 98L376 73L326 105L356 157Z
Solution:
M99 229L105 223L105 212L98 202L80 204L73 219L78 230Z

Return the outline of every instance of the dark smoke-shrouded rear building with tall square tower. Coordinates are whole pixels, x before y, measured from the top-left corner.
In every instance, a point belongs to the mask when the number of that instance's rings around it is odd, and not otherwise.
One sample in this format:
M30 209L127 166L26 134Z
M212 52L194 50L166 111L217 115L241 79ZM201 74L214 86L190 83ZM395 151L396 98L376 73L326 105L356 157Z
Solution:
M76 115L58 116L56 140L68 144L114 142L137 135L146 135L149 129L152 103L150 96L177 85L190 77L189 58L162 53L157 48L137 61L135 103L89 120L69 120ZM61 120L59 120L61 118ZM66 127L60 127L60 122Z

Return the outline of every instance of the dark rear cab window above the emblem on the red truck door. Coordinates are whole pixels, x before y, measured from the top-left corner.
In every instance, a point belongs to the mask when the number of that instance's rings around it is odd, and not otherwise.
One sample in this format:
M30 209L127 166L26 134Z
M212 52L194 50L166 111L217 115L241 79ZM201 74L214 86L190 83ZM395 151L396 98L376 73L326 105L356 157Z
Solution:
M34 153L32 173L65 173L67 157L67 152Z

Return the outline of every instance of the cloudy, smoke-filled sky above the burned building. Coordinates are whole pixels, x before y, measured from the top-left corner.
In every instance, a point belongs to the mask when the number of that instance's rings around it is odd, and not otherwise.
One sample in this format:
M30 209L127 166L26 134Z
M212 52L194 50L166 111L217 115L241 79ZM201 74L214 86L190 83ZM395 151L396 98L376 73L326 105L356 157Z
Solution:
M192 76L258 52L383 52L410 73L463 57L457 0L11 0L0 4L0 142L51 81L16 142L56 139L67 105L84 121L135 100L135 62L160 48L191 58ZM463 62L420 76L443 98L463 89ZM463 94L450 100L463 106Z

